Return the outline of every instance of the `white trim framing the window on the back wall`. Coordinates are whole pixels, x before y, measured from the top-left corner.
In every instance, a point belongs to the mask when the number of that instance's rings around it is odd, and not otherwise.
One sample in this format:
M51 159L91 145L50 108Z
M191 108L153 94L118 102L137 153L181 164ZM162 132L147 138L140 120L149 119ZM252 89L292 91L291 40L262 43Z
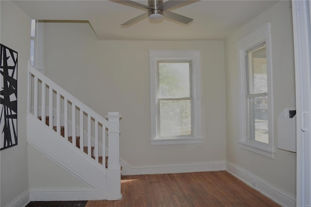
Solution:
M159 138L157 136L157 61L186 60L192 63L192 137ZM151 144L193 144L202 143L200 51L197 50L149 50L150 100L151 100Z

